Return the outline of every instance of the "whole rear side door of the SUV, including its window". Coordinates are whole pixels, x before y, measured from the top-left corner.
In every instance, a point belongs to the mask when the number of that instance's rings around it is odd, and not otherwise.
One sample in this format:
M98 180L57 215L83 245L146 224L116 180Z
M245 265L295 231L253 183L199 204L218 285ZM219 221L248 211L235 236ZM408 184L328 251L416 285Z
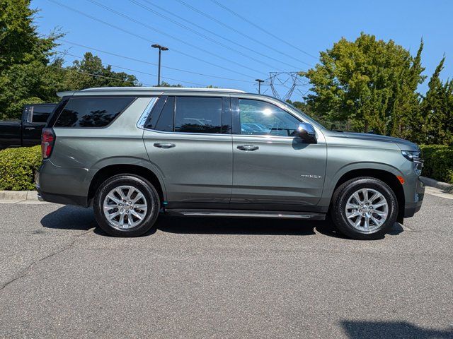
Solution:
M164 177L168 206L217 203L227 208L233 182L229 98L161 100L166 100L161 112L153 109L149 118L155 120L153 130L145 130L143 138L149 160Z

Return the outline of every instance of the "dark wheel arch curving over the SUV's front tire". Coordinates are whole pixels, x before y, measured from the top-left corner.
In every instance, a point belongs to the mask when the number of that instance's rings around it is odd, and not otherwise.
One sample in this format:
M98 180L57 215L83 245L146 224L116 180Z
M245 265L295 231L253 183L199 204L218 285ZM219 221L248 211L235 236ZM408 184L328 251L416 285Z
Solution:
M347 182L350 179L354 179L357 177L373 177L379 180L382 180L382 182L385 182L389 187L394 191L394 194L396 196L396 200L398 201L398 216L396 220L398 222L403 222L404 218L404 206L405 206L405 197L404 197L404 189L403 185L399 181L399 179L396 177L396 174L389 172L385 169L370 169L370 168L364 168L364 169L351 169L348 172L345 172L336 182L336 185L333 188L332 192L335 192L338 187ZM333 196L333 194L332 194ZM331 201L332 203L332 201ZM331 204L329 204L331 206ZM330 208L330 207L329 207Z

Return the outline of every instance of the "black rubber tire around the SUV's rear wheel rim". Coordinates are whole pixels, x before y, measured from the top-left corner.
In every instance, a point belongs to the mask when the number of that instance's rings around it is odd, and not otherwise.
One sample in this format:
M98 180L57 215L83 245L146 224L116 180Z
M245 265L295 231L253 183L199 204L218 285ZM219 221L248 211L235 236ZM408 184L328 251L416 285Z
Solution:
M142 212L144 214L142 220L135 218L137 225L129 229L119 229L112 225L103 211L105 197L110 191L120 186L134 187L143 194L147 203L147 211L146 213ZM159 194L154 186L146 179L134 174L119 174L105 180L105 182L98 187L93 201L94 217L96 218L99 227L101 227L105 233L113 235L114 237L138 237L148 232L154 226L154 223L159 216L160 208L161 202L159 200ZM115 212L115 210L113 210L113 212ZM125 218L127 219L130 217Z

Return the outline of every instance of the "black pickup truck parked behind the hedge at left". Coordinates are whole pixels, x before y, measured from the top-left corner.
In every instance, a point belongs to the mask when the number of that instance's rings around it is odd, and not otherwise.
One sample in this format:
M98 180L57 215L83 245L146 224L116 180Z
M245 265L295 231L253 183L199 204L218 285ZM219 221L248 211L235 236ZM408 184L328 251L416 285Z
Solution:
M0 121L0 150L39 145L42 128L55 106L57 104L25 105L21 120Z

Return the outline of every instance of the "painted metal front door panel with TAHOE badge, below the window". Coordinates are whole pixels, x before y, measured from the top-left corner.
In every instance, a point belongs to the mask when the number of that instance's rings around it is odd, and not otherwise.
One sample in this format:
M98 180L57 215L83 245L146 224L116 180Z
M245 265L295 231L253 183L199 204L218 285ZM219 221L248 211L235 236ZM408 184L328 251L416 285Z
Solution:
M251 145L257 150L240 150ZM326 145L296 138L233 136L231 203L316 205L326 173Z

